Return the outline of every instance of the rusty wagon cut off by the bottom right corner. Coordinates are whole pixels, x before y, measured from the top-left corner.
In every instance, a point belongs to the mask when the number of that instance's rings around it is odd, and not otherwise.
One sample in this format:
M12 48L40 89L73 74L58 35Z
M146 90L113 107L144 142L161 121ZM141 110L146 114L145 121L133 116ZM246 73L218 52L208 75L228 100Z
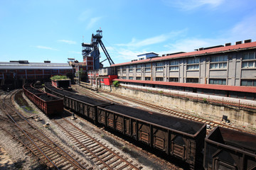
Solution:
M256 135L216 127L205 140L205 169L256 169Z

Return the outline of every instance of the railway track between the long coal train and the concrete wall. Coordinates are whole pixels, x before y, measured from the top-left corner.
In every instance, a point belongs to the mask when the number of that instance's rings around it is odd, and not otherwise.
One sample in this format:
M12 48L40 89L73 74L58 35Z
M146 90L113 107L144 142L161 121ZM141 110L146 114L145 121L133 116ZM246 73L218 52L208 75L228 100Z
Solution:
M85 94L87 96L91 96L93 98L99 98L101 100L103 98L106 101L112 101L114 103L117 103L117 100L112 100L111 98L107 98L107 97L102 96L100 94L95 94L94 92L90 91L89 89L85 89L85 88L82 88L80 86L75 86L75 87L78 88L80 92L82 92L83 94ZM181 112L178 112L178 111L174 111L173 109L170 109L170 108L164 108L164 107L161 107L161 106L156 106L153 103L146 103L144 101L141 101L141 100L138 100L138 99L135 99L135 98L129 98L127 96L122 96L122 95L119 95L119 94L114 94L114 93L111 93L111 92L108 92L108 91L100 91L100 92L103 93L103 94L109 94L110 96L115 96L117 98L122 98L122 99L124 99L126 101L130 101L130 102L142 105L142 106L146 106L146 108L151 108L154 111L158 111L160 113L167 113L169 115L173 115L173 116L175 116L177 118L185 118L185 119L188 119L188 120L194 120L194 121L206 123L206 125L208 125L207 126L207 128L208 128L207 131L208 132L210 132L210 130L212 130L216 126L220 126L220 127L224 127L224 128L229 128L229 129L233 129L233 130L242 131L242 132L249 132L249 133L252 133L254 135L256 133L256 132L254 132L252 130L243 130L242 128L236 128L236 127L228 125L228 124L219 123L219 122L213 121L213 120L207 120L205 118L198 118L197 116L194 116L194 115L190 115L190 114L187 114L187 113L181 113Z

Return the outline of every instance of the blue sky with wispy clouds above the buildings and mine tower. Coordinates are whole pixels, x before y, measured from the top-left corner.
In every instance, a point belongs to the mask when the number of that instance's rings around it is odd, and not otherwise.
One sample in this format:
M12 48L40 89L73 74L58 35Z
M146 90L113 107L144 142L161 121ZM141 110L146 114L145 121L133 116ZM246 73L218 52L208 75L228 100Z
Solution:
M82 39L89 43L100 28L114 63L144 52L163 55L255 41L256 1L2 0L0 61L67 62L72 57L82 62Z

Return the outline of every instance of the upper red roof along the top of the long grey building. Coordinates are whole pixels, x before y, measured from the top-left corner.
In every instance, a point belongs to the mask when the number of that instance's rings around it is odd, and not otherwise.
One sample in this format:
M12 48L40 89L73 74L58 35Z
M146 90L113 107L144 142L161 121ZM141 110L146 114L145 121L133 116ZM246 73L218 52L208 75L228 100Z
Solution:
M247 48L252 48L252 47L256 47L256 42L248 42L248 43L243 43L240 45L230 45L230 46L225 46L225 47L215 47L215 48L211 48L208 50L186 52L186 53L181 53L181 54L177 54L177 55L156 57L156 58L151 58L151 59L146 59L146 60L138 60L138 61L134 61L134 62L123 62L123 63L119 63L119 64L113 64L113 65L111 65L111 67L127 65L127 64L135 64L135 63L139 64L142 62L149 62L149 61L153 62L153 61L157 61L157 60L167 60L167 59L178 58L178 57L189 57L189 56L195 56L195 55L210 55L210 54L214 54L214 53L218 53L218 52L231 52L231 51L235 51L235 50L245 50Z

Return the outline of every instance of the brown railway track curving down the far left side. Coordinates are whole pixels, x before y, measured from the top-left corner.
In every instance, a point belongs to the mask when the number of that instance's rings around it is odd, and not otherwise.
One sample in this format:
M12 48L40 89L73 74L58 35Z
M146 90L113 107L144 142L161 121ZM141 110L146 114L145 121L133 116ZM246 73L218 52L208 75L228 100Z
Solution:
M48 169L87 169L85 162L80 163L74 159L58 142L53 142L41 130L32 125L26 118L18 113L11 103L17 91L2 98L1 111L6 117L1 118L1 130L13 137L29 152L41 161Z

